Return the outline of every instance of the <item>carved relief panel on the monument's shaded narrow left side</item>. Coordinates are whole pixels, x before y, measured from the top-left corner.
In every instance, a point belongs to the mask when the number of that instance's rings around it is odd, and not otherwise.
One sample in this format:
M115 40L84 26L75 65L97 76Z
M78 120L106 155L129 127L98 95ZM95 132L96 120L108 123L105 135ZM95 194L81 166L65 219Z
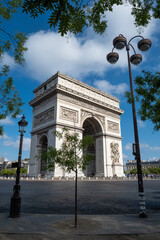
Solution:
M33 126L37 127L40 124L51 121L54 119L54 108L50 108L43 113L34 116Z

